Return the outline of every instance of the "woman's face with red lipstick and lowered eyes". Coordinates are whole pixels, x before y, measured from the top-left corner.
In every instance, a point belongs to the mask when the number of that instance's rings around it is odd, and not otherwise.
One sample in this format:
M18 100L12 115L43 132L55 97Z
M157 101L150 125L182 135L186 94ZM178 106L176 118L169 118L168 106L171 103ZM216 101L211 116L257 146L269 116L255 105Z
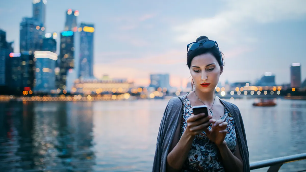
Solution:
M219 82L221 68L216 58L206 53L192 59L190 74L197 90L211 92Z

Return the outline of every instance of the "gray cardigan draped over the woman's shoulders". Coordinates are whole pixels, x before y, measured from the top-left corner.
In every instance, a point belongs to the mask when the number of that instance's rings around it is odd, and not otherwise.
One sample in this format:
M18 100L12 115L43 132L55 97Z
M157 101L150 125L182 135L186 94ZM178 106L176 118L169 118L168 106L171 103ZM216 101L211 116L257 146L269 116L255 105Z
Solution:
M169 100L166 106L159 126L152 172L166 172L168 151L174 138L174 133L178 122L181 124L180 121L184 111L182 100L184 100L186 97L187 94L180 97L173 97ZM248 144L240 110L233 103L229 103L225 100L221 100L221 102L233 116L235 129L237 132L237 143L239 144L241 157L243 159L243 172L249 172L250 163Z

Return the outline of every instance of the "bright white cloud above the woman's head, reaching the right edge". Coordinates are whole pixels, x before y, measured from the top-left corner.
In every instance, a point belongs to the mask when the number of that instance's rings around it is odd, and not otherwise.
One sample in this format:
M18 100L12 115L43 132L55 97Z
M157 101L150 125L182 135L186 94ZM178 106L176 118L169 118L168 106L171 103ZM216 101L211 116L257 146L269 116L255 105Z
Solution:
M177 41L190 42L195 36L203 34L222 41L233 41L241 32L239 28L252 23L268 23L281 20L294 19L306 14L306 1L304 0L258 0L258 1L224 1L225 9L214 17L193 19L187 23L173 27L179 34ZM248 36L243 38L248 42ZM241 41L241 40L240 40ZM237 43L237 42L236 42Z

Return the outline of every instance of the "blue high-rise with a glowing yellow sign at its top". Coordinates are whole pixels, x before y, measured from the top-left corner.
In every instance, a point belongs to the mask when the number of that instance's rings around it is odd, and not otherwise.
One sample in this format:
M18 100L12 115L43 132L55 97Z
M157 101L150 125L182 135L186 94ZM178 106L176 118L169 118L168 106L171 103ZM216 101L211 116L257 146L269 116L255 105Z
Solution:
M80 78L93 77L93 56L94 56L94 25L81 23L80 28Z

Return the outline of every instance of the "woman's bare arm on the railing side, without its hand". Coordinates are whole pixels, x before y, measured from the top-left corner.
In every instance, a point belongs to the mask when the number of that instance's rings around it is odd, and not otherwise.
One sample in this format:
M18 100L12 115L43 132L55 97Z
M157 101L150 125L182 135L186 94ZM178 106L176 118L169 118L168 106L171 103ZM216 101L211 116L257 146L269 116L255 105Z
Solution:
M226 172L243 172L243 161L240 155L239 143L236 144L236 150L234 154L227 147L226 141L218 145L218 148Z

